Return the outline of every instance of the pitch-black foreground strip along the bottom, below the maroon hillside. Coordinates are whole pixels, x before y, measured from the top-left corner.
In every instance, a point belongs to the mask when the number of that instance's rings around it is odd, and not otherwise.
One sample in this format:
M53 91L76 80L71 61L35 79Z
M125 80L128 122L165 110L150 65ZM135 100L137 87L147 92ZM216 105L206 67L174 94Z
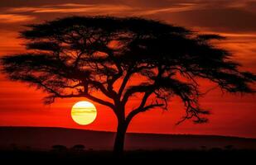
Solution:
M0 159L5 163L256 163L256 150L220 149L170 150L170 151L126 151L123 158L115 158L110 151L32 151L1 150Z

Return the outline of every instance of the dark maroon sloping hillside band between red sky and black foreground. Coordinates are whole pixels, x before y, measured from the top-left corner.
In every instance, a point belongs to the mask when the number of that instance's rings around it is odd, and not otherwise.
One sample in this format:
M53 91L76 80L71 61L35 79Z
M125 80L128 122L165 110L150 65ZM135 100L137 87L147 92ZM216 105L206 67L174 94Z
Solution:
M49 127L0 127L0 148L31 148L49 150L53 145L72 148L83 144L85 149L109 150L114 146L115 133ZM226 147L256 149L256 139L218 135L134 134L128 133L126 150L210 149Z

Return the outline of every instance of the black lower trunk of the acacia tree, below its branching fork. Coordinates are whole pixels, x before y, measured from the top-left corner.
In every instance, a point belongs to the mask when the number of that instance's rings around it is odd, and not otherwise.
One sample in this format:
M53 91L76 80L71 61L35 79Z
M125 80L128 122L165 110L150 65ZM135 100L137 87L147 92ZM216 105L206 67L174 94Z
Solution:
M125 121L118 121L118 129L114 141L114 156L123 156L124 139L127 127L128 125Z

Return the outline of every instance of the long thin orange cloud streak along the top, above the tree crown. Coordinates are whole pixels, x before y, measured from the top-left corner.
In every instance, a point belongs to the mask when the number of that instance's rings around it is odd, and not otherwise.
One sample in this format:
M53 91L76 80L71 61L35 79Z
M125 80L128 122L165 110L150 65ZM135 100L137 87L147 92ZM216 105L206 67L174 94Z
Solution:
M176 3L169 7L134 7L121 4L80 4L80 3L64 3L58 5L47 5L41 7L12 7L8 8L7 12L10 13L75 13L75 12L87 12L94 14L131 14L131 15L152 15L159 12L184 12L195 10L200 5L196 3Z

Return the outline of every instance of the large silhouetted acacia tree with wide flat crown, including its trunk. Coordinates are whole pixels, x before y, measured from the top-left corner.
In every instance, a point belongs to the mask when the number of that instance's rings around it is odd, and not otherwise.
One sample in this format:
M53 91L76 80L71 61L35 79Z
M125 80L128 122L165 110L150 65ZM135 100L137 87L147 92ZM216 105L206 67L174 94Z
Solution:
M118 120L115 153L123 152L133 117L157 107L167 109L170 97L183 101L182 120L207 121L209 112L198 103L198 78L226 92L254 92L249 83L256 81L255 75L240 72L229 52L210 43L224 39L220 35L111 16L70 16L27 28L21 32L27 53L3 57L2 71L13 81L43 89L49 94L46 104L85 97L109 106ZM140 102L129 110L134 96Z

